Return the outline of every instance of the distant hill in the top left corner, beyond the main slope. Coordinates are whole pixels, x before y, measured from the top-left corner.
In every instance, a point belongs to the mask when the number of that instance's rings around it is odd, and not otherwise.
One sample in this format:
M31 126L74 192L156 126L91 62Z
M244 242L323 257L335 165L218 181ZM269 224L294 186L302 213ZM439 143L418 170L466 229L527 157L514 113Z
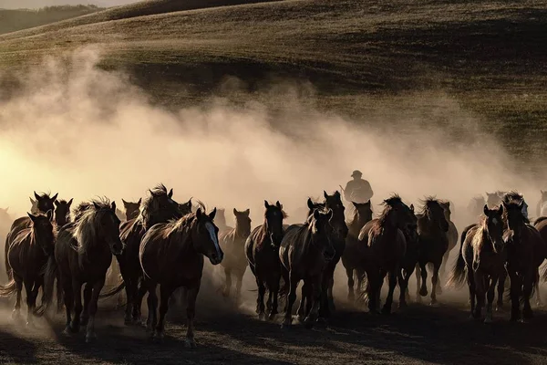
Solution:
M99 10L102 9L95 5L46 6L37 10L0 9L0 34L85 16Z

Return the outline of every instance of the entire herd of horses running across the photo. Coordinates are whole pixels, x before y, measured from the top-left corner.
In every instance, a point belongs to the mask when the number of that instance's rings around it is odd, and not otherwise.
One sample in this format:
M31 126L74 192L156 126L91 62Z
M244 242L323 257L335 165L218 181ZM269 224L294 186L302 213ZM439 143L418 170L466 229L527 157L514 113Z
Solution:
M293 323L293 307L300 282L299 321L311 328L335 312L335 267L346 269L347 298L364 299L369 312L389 314L395 289L399 308L407 306L408 282L417 278L417 300L428 296L437 302L450 250L459 243L459 255L446 286L470 290L472 318L492 320L503 305L509 277L511 320L532 318L530 300L539 296L539 267L547 258L547 193L542 192L534 224L520 193L492 193L478 197L468 209L477 219L459 235L451 221L452 204L435 197L413 204L394 194L383 201L373 218L372 204L351 203L353 215L346 223L341 194L324 193L324 200L307 200L302 224L285 224L280 202L264 201L263 223L253 228L250 211L233 209L235 226L226 225L223 210L207 212L203 203L177 203L172 189L160 184L136 203L116 203L100 198L72 207L57 194L34 193L31 213L16 219L5 239L5 269L9 282L0 296L15 294L14 318L20 317L23 287L26 322L47 316L57 302L65 308L67 334L86 327L86 341L95 339L99 297L112 297L125 289L125 323L140 324L142 300L147 296L146 327L162 339L170 298L183 288L186 302L185 345L195 347L193 319L201 287L204 257L224 271L222 295L241 300L243 275L250 267L256 278L256 313L274 319L284 302L283 327ZM0 209L0 220L6 210ZM103 291L108 273L119 282ZM547 278L547 277L544 277ZM357 281L357 285L356 285ZM387 297L380 294L387 283ZM158 286L160 298L158 298ZM234 288L233 288L234 287ZM36 305L41 288L41 303ZM83 289L83 290L82 290ZM232 291L233 289L233 291ZM83 292L83 293L82 293ZM266 293L268 294L266 298ZM83 300L82 300L83 298ZM522 305L522 310L521 310ZM159 317L158 317L159 314Z

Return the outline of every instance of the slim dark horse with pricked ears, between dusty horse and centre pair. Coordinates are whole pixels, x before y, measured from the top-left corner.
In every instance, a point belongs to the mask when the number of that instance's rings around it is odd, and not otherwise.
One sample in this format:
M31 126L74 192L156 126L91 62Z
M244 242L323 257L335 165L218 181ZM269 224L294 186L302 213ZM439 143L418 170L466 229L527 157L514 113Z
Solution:
M258 318L265 318L264 294L268 289L269 318L274 319L277 312L277 299L281 280L281 261L279 247L284 236L283 221L287 217L283 205L276 202L270 204L264 201L264 222L253 229L245 241L245 256L258 287L256 298L256 314Z

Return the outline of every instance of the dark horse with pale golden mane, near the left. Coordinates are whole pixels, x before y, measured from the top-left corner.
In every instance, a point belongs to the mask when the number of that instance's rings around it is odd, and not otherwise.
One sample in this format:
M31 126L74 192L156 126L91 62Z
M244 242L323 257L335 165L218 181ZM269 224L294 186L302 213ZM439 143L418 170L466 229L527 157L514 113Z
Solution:
M53 300L54 282L58 278L60 286L57 288L63 292L67 311L65 332L77 333L80 324L87 325L86 342L96 338L98 295L105 284L112 255L119 255L123 248L116 203L103 198L92 201L91 205L76 222L60 229L55 255L47 261L45 277L46 308ZM71 317L73 310L74 317Z

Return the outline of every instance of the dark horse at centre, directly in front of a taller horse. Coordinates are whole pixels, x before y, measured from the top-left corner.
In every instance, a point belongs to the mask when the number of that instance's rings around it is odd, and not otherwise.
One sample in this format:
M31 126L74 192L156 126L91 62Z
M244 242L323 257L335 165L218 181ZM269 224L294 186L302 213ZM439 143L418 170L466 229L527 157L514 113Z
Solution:
M290 287L282 327L289 327L292 324L296 287L300 280L304 280L304 286L309 287L312 303L304 320L305 327L312 328L318 318L325 268L335 258L334 241L339 237L330 223L333 216L330 209L326 213L315 209L305 224L290 225L285 231L279 248L279 259L285 286ZM304 292L308 291L304 291L303 288Z

